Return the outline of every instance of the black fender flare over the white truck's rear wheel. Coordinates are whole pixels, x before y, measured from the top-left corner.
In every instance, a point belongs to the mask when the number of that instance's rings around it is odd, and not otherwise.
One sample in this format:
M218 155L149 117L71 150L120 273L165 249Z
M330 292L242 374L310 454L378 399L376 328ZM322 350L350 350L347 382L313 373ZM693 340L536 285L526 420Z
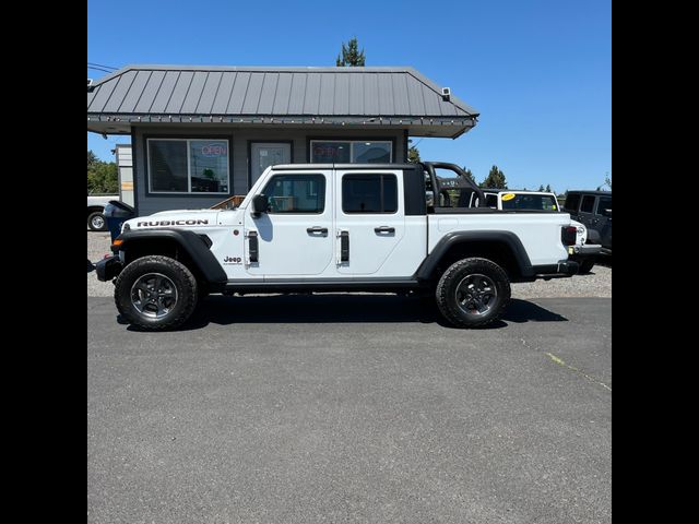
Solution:
M418 279L428 279L442 257L454 246L469 242L494 242L505 245L509 248L514 262L517 263L520 274L524 277L533 276L535 271L530 261L529 254L520 240L520 237L512 231L498 231L498 230L479 230L479 231L450 231L447 233L437 242L433 251L423 261L417 269L415 276Z

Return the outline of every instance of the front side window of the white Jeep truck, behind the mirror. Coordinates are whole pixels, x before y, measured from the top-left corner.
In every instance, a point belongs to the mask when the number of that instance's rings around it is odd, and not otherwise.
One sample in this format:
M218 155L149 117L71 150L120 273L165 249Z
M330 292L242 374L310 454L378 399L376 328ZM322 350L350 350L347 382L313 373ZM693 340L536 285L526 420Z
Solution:
M270 199L269 213L322 213L325 210L325 177L275 175L262 190Z

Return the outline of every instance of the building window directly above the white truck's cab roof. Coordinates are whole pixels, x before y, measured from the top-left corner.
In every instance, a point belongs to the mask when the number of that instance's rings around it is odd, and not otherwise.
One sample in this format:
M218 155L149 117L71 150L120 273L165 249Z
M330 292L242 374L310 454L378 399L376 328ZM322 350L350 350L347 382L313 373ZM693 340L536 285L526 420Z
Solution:
M317 164L390 164L393 162L393 142L311 140L310 162Z

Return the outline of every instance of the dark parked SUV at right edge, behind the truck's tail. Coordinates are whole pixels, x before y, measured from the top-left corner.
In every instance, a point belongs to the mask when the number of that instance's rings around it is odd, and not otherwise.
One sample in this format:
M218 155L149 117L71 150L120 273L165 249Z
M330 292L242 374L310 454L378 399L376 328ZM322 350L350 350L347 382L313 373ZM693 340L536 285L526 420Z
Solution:
M588 242L602 245L612 254L612 191L568 191L564 209L588 228Z

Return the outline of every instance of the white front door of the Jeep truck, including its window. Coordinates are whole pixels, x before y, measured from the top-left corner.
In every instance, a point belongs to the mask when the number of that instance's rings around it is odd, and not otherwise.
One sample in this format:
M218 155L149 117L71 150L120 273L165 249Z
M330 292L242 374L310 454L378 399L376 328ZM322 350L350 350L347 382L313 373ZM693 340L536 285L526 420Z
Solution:
M286 278L320 275L333 254L331 170L279 171L259 191L269 198L268 213L246 213L246 255L258 243L250 275ZM250 236L252 234L252 237Z

